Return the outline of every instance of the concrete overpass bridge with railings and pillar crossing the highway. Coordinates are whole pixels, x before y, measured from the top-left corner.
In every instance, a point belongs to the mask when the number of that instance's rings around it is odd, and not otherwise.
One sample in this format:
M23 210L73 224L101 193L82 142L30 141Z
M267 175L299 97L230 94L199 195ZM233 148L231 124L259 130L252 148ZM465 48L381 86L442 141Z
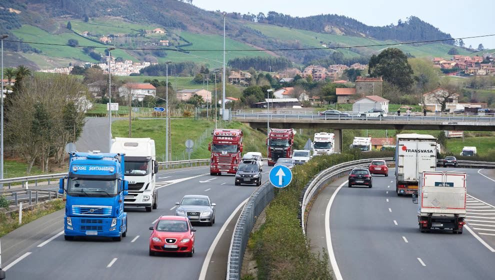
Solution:
M464 115L389 115L366 117L359 115L320 115L318 112L289 111L235 111L232 120L246 123L252 128L321 128L334 129L335 151L342 151L342 129L398 129L398 130L463 130L495 131L493 116Z

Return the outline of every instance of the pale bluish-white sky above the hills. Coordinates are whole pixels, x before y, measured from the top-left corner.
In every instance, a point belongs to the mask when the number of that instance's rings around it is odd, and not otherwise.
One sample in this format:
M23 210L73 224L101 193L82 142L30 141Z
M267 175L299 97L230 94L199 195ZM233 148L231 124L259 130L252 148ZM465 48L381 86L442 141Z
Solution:
M397 24L400 18L414 15L438 27L453 38L495 34L495 0L193 0L192 4L206 10L250 12L276 11L291 16L338 14L352 17L366 25ZM495 48L495 36L463 39L466 46Z

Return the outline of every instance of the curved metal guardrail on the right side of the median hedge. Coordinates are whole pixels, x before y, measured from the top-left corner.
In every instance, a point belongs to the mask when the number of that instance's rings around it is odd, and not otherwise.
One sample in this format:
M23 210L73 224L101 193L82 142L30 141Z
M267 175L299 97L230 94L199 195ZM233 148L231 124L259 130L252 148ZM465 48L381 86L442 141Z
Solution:
M366 158L353 160L348 162L339 163L333 165L329 168L326 168L314 176L304 188L301 190L300 198L299 198L299 213L297 214L297 218L300 219L300 226L302 227L302 232L305 232L305 224L304 224L304 212L306 210L307 203L311 200L315 193L318 192L323 186L328 184L331 180L338 178L344 174L347 174L352 168L356 166L368 166L372 160L381 159L385 160L387 163L393 162L392 157L384 157L384 158Z

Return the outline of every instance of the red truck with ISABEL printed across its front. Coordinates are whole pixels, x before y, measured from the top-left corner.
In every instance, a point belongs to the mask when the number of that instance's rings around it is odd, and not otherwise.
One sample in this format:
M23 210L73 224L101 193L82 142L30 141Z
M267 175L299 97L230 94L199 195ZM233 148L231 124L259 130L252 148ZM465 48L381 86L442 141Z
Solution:
M211 151L209 174L235 174L241 159L242 130L214 129L212 134L213 139L208 144L208 150Z

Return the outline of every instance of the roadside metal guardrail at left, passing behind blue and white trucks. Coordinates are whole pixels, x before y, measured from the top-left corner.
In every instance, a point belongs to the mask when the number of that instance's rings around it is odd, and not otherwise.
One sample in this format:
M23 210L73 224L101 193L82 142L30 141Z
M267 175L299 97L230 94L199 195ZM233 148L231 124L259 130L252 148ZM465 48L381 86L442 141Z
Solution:
M190 159L190 160L177 160L177 161L160 161L158 162L158 166L163 166L165 168L179 168L184 167L184 165L187 166L197 166L198 164L202 165L202 163L208 163L210 162L210 158L202 158L202 159ZM55 173L55 174L44 174L44 175L33 175L33 176L22 176L22 177L15 177L15 178L7 178L7 179L0 179L0 184L8 184L8 188L10 188L10 184L14 182L22 182L22 187L24 187L25 182L27 181L34 181L35 185L37 186L38 180L48 180L48 184L50 183L51 179L59 179L67 175L67 173Z

